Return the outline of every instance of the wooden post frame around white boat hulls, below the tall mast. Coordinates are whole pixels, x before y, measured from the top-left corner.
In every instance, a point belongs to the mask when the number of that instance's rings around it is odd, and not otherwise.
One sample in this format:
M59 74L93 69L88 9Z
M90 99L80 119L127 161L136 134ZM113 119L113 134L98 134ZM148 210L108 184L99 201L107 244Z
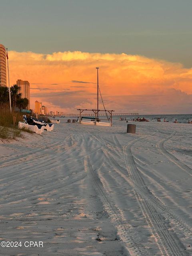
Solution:
M78 109L80 111L79 114L79 123L80 124L92 124L92 125L100 125L100 126L112 126L112 112L114 112L114 110L98 110L98 109ZM82 116L82 113L84 111L91 111L93 112L92 116L94 117L88 117L85 116L85 114L83 114L84 116ZM107 119L100 119L99 116L101 115L99 112L105 112L104 115L107 116ZM109 115L109 118L108 118ZM82 119L90 119L90 120L82 120ZM102 122L108 120L108 122Z

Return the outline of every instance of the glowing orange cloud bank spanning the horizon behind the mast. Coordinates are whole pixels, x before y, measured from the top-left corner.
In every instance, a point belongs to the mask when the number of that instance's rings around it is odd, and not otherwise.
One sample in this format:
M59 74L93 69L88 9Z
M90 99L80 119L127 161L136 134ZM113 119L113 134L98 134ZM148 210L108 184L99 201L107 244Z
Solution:
M17 79L30 82L32 108L35 100L64 112L95 108L95 68L99 66L99 84L108 108L116 112L191 112L192 69L179 63L124 53L10 51L9 65L11 84Z

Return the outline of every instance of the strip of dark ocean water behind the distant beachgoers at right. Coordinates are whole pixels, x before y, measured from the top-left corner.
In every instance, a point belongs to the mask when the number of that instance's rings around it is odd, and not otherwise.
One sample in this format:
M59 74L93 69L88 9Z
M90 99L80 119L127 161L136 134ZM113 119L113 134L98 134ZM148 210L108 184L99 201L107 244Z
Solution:
M138 115L138 116L122 116L122 118L126 120L131 120L131 118L146 118L149 121L152 122L157 122L157 119L160 118L161 122L163 122L164 118L166 119L166 121L169 122L174 122L176 119L179 123L188 123L188 120L192 121L192 114L172 114L172 115L168 115L168 114L156 114L156 115ZM120 116L113 116L113 119L116 120L120 120Z

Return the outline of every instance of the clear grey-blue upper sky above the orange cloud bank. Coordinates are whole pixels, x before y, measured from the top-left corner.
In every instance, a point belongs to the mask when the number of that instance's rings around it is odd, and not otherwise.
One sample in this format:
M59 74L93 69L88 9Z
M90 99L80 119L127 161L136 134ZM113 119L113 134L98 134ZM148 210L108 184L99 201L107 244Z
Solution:
M139 54L191 67L191 0L0 0L10 50Z

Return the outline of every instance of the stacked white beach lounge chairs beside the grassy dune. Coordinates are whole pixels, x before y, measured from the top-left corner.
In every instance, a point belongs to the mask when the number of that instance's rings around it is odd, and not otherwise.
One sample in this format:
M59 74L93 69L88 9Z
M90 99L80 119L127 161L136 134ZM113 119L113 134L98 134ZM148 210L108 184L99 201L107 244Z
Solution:
M27 118L26 115L23 115L24 122L18 123L18 128L25 128L37 134L42 134L44 130L52 131L54 129L54 124L46 123L44 121L35 120L30 116Z

